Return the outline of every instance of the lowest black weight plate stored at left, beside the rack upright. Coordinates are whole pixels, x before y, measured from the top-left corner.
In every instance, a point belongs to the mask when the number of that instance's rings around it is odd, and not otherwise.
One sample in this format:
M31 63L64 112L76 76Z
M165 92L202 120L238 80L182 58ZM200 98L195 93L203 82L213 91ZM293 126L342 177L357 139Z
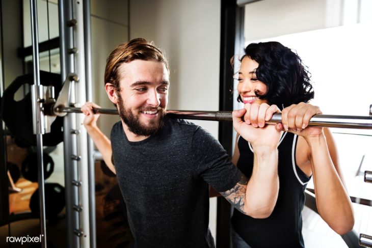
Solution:
M55 218L65 207L65 188L58 183L45 183L45 217ZM31 196L30 209L35 217L40 217L39 188Z

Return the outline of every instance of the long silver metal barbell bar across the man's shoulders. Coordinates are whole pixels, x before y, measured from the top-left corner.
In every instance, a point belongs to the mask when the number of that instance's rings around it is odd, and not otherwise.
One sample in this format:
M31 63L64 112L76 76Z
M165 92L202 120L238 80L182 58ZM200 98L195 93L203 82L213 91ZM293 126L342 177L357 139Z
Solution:
M82 113L78 107L55 108L58 113ZM118 115L117 109L93 108L97 114ZM205 120L205 121L232 121L232 112L229 111L166 111L167 116L177 119ZM281 122L281 113L275 113L266 124L276 124ZM343 116L343 115L315 115L310 119L309 126L317 127L337 127L337 128L356 128L372 129L372 116Z

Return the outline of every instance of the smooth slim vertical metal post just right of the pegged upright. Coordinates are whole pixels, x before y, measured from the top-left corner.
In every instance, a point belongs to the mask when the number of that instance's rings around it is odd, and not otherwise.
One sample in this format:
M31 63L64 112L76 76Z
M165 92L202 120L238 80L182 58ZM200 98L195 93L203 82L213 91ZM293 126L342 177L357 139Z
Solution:
M90 0L83 1L84 15L84 46L85 46L85 85L87 101L92 101L92 43ZM96 248L96 202L95 202L95 175L94 175L94 146L90 137L88 142L88 189L89 189L89 232L90 247Z

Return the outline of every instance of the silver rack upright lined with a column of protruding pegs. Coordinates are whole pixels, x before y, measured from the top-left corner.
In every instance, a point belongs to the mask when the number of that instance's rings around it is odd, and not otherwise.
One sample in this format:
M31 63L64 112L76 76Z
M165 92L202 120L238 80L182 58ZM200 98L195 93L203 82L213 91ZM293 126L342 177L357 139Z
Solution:
M71 53L73 48L73 21L71 0L60 0L59 6L59 27L60 27L60 58L62 81L67 75L74 72L74 56ZM72 88L72 87L71 87ZM72 90L71 90L72 91ZM71 92L71 99L74 100L74 92ZM73 210L78 204L78 186L72 184L77 177L77 161L72 160L72 154L76 154L76 135L71 133L76 123L74 115L64 118L64 171L65 171L65 192L66 192L66 218L67 218L67 247L79 247L80 238L75 235L79 228L79 213Z

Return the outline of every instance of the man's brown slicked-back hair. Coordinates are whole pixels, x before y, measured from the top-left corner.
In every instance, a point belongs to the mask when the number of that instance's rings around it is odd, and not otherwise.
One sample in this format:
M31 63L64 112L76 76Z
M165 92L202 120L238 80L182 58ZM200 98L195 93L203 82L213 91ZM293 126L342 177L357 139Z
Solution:
M116 90L120 91L118 68L122 63L129 63L134 60L163 62L169 71L168 61L163 52L152 42L148 42L143 38L136 38L118 45L110 53L104 70L104 84L110 82L115 86Z

